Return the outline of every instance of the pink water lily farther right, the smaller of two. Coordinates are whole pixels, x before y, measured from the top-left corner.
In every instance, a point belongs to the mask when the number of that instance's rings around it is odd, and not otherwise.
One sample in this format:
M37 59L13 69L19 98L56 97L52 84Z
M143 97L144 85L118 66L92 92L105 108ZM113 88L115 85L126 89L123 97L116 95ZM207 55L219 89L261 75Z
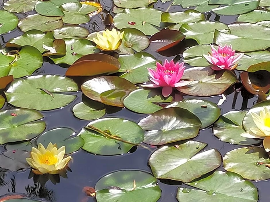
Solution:
M238 53L235 55L235 50L232 50L232 45L223 47L219 45L218 50L211 46L212 53L208 52L208 55L203 55L208 62L213 64L211 67L213 70L233 70L238 64L236 62L242 58L244 53Z

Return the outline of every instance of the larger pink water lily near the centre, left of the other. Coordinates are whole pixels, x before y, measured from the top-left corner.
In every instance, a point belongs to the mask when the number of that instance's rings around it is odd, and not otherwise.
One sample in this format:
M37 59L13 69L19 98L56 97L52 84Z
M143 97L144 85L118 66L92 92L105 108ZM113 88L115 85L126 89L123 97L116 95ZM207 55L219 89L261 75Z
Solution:
M148 87L148 88L162 88L162 95L164 97L168 97L171 95L171 92L173 91L173 88L175 87L182 87L186 86L192 81L180 81L184 74L185 66L184 62L180 63L177 62L174 64L173 60L169 62L168 60L165 60L163 66L157 62L157 68L156 70L153 70L151 68L148 69L148 74L151 77L151 81L153 84L144 84L141 85L142 87Z

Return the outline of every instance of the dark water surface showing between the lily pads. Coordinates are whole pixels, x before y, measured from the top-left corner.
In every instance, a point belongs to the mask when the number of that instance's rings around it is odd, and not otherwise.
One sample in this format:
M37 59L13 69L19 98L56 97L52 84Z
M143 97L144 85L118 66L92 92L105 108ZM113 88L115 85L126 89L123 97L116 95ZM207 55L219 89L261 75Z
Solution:
M97 30L105 29L103 24L103 19L106 16L107 12L111 12L113 7L112 0L100 0L100 3L103 5L105 11L103 13L94 16L88 24L84 24L82 26L86 27L90 32L94 32ZM0 0L1 9L3 6L3 0ZM161 11L166 11L169 7L170 3L157 3L155 5L156 9L160 9ZM169 8L169 12L175 11L183 11L181 6L171 6ZM30 12L30 14L34 13L34 11ZM29 14L29 13L28 13ZM19 18L25 17L25 13L18 14ZM219 16L214 13L207 13L207 19L212 21L220 21L223 23L233 23L236 21L237 16ZM0 45L4 46L5 43L16 36L23 34L18 29L9 33L0 36ZM163 61L165 59L173 59L173 57L165 57L161 56L156 52L151 51L151 47L147 48L146 52L151 53L153 56ZM181 56L181 55L180 55ZM44 62L42 68L38 69L34 75L36 74L58 74L64 75L66 68L63 68L59 65L50 64L49 62ZM249 95L245 91L236 92L233 88L228 90L225 94L225 100L221 107L221 114L226 113L232 110L247 110L252 107L257 98ZM42 112L45 116L44 120L47 123L46 130L50 130L52 128L59 127L69 127L74 129L76 132L79 132L87 123L90 121L83 121L75 118L72 114L72 107L82 101L82 93L77 92L78 96L70 105L64 107L63 109L56 109L52 111L44 111ZM184 96L184 98L188 98L190 96ZM224 96L223 96L224 97ZM213 96L208 98L202 98L210 100L214 103L222 103L221 96ZM10 108L11 106L7 106ZM106 114L106 117L122 117L131 121L135 121L138 123L140 119L146 117L146 115L140 115L133 113L127 109L122 109L117 111L116 113ZM232 145L226 142L221 142L213 135L211 128L206 128L200 131L200 135L194 140L198 140L201 142L206 142L208 146L205 150L210 148L216 148L222 155L226 152L238 148L240 146ZM154 150L155 148L153 148ZM0 172L0 184L1 179L4 179L6 185L0 187L0 195L5 195L7 193L15 192L15 193L25 193L29 194L31 192L32 197L44 198L43 200L52 201L52 202L92 202L95 201L94 198L87 198L82 191L83 187L90 186L94 187L97 181L104 175L123 169L136 169L143 170L146 172L151 172L150 167L147 165L148 158L151 155L151 152L145 150L143 148L137 148L136 151L119 155L119 156L98 156L94 154L90 154L85 152L84 150L79 150L75 154L73 154L73 160L69 163L69 166L72 172L67 172L67 179L60 177L59 183L55 185L51 181L47 181L47 183L42 186L40 183L34 184L33 178L28 179L30 170L26 170L24 172L12 172L12 173L3 173ZM219 168L223 170L222 167ZM252 171L251 171L252 172ZM44 181L44 177L42 176L40 181ZM55 179L56 181L59 179ZM260 202L268 202L270 201L269 195L269 185L268 181L259 181L253 183L259 189L259 197ZM159 181L159 186L162 190L162 196L159 199L159 202L176 202L176 193L179 185L187 187L186 185L182 185L177 181L170 180L162 180ZM143 201L142 201L143 202ZM145 201L147 202L147 201Z

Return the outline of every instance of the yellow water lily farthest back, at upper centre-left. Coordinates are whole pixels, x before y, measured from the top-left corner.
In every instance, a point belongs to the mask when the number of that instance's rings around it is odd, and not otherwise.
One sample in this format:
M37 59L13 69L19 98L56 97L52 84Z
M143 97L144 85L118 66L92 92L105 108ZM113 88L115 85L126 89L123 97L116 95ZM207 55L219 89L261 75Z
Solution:
M106 30L103 34L97 33L97 38L93 38L96 46L104 51L117 50L122 44L124 31L119 32L116 29Z

